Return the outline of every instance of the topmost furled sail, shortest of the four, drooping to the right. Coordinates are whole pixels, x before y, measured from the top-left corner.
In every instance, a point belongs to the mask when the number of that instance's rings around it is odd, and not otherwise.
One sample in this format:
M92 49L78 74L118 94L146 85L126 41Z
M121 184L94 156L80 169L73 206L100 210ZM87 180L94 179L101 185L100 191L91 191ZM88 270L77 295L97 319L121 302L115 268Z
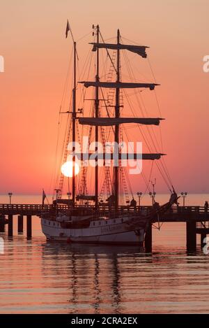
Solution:
M92 51L96 51L98 48L103 48L103 49L112 49L112 50L129 50L131 52L135 52L139 56L146 58L146 45L123 45L121 43L119 44L113 44L113 43L90 43L93 45Z

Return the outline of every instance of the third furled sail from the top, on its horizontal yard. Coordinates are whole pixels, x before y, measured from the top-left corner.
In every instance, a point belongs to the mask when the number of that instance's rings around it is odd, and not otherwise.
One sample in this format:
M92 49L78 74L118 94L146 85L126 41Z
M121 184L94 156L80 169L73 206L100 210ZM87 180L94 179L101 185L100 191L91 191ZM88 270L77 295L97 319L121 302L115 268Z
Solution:
M79 124L109 127L123 123L159 125L162 118L137 118L137 117L79 117Z

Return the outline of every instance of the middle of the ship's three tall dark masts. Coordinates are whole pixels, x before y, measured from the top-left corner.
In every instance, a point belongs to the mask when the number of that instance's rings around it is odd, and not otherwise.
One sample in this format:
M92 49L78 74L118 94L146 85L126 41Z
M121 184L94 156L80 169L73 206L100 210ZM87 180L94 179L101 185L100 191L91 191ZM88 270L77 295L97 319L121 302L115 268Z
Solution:
M100 42L100 27L96 27L97 33L97 43ZM100 69L100 57L99 57L99 48L97 49L97 59L96 59L96 76L95 82L98 83L99 78L99 69ZM98 118L99 115L99 86L95 87L95 117ZM95 152L98 151L98 126L95 126ZM95 159L95 208L98 208L98 157Z

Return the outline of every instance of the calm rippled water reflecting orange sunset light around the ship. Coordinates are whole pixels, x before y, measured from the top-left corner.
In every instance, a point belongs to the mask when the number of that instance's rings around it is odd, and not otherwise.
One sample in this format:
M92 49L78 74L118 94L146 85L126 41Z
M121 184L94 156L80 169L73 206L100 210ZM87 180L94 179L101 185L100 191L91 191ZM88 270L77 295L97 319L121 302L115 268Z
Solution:
M191 195L187 204L206 199ZM153 229L153 254L144 254L135 247L47 243L38 218L27 241L14 221L13 238L0 234L0 313L209 313L209 255L200 246L187 254L185 224Z

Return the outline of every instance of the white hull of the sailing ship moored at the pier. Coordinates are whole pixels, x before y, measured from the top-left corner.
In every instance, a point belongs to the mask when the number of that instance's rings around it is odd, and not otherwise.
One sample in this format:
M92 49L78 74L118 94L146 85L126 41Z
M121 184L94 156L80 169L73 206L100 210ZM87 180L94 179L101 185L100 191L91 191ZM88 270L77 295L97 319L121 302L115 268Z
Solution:
M130 217L95 220L89 227L68 229L63 228L61 222L42 218L41 225L43 234L50 241L142 246L146 230L144 220L138 224L137 229L130 228L127 221L130 222Z

